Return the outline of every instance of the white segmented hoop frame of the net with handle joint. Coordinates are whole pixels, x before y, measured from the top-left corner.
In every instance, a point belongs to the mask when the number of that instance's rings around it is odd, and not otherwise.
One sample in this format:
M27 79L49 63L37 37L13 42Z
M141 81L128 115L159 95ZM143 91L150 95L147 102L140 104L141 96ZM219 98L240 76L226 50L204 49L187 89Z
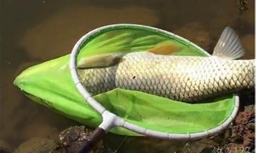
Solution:
M193 46L196 47L200 52L205 53L206 55L210 56L205 50L203 50L201 47L197 46L193 42L188 41L187 39L184 39L178 35L175 35L173 33L153 28L153 27L148 27L145 25L139 25L139 24L112 24L112 25L106 25L100 28L97 28L86 35L82 36L74 45L72 49L72 53L70 56L70 71L72 75L72 79L74 81L74 84L77 88L77 90L81 93L83 98L92 106L95 110L97 110L101 115L102 115L102 122L99 125L101 129L104 129L104 131L107 133L112 127L114 126L122 126L125 129L134 131L136 133L146 135L146 136L152 136L152 137L157 137L157 138L164 138L164 139L176 139L176 140L190 140L190 139L201 139L207 136L212 136L215 134L220 133L223 129L225 129L228 124L236 117L238 113L238 108L239 108L239 97L238 95L235 96L235 106L234 109L229 116L228 119L226 119L222 124L219 126L199 132L199 133L187 133L187 134L172 134L172 133L165 133L165 132L159 132L159 131L154 131L150 129L146 129L144 127L140 127L138 125L135 125L133 123L127 122L123 120L122 118L116 116L115 114L109 112L106 110L103 106L101 106L97 100L95 100L92 95L86 90L86 88L83 87L79 77L78 77L78 72L76 69L76 57L81 49L81 46L83 45L84 42L88 38L90 38L92 35L95 35L97 33L100 33L103 30L106 29L122 29L122 28L130 28L130 29L144 29L148 31L155 31L158 32L162 35L172 37L174 39L179 39L181 40L185 45Z

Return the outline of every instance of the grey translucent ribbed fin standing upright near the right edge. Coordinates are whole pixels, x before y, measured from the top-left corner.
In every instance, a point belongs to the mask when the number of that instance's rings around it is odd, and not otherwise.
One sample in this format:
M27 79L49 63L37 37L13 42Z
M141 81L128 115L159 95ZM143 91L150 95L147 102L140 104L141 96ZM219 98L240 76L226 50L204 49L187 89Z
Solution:
M244 55L242 43L230 27L226 27L222 32L212 55L230 60L238 59Z

